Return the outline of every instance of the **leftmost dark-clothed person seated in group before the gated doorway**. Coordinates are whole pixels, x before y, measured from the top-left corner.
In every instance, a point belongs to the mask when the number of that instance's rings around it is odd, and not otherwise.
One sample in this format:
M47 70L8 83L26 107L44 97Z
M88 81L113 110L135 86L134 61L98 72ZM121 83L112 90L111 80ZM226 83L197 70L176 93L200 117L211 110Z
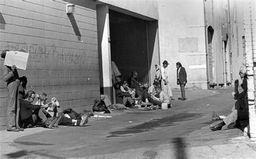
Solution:
M131 98L131 95L129 92L123 92L121 88L122 84L116 85L116 102L119 104L124 104L127 107L134 108L134 101Z

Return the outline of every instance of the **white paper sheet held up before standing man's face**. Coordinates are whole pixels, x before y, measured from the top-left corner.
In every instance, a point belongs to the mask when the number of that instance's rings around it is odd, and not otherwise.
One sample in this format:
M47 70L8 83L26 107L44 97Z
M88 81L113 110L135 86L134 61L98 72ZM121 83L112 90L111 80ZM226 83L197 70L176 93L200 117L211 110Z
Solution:
M6 52L4 65L6 66L12 66L16 65L17 68L26 70L26 63L28 63L29 59L29 53L23 53L23 52Z

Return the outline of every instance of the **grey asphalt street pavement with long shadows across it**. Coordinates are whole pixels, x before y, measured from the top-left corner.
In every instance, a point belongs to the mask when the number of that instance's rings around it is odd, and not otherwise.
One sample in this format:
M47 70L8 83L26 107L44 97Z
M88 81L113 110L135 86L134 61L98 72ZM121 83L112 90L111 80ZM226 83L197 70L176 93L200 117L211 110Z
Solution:
M41 129L23 135L12 142L2 140L3 157L21 158L221 158L255 157L255 144L244 138L242 121L240 129L212 132L211 114L231 112L235 100L233 88L186 91L188 100L180 101L179 91L174 91L172 107L168 110L142 111L129 109L111 112L112 118L92 118L85 127ZM29 135L25 132L30 131ZM3 132L4 135L7 132ZM241 139L242 138L242 139ZM234 140L238 139L238 140ZM246 146L244 146L244 144ZM3 146L14 151L5 150ZM220 146L225 146L222 149ZM217 149L220 149L219 153ZM245 154L240 156L227 151ZM231 152L233 152L231 151ZM254 153L254 154L253 154ZM232 156L233 155L233 156ZM253 156L252 156L253 155Z

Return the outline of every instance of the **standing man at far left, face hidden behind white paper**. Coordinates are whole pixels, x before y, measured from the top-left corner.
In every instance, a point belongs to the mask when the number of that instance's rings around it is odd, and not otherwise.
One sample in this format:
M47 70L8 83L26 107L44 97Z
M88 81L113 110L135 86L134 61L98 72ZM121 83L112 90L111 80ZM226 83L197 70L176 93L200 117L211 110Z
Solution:
M5 59L6 54L9 50L3 50L1 57ZM8 66L3 65L3 79L7 82L6 89L9 95L9 102L7 106L7 124L6 129L10 132L23 131L24 129L19 127L19 100L18 100L18 86L19 86L19 75L16 69L16 65Z

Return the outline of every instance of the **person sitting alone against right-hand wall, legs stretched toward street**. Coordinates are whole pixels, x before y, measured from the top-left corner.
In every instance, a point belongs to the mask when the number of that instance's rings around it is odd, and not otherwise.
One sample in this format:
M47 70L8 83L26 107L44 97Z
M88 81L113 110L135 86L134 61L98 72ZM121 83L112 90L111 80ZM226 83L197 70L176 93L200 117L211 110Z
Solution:
M240 74L240 73L239 73ZM232 108L232 113L227 115L224 119L221 119L219 115L214 114L212 117L215 120L223 120L219 122L217 125L210 127L211 131L219 131L224 125L227 125L228 129L238 128L240 127L240 120L249 120L249 112L248 112L248 97L247 97L247 75L240 74L242 80L241 87L243 91L239 93L238 91L238 79L235 80L234 85L234 99L237 100L235 105Z

